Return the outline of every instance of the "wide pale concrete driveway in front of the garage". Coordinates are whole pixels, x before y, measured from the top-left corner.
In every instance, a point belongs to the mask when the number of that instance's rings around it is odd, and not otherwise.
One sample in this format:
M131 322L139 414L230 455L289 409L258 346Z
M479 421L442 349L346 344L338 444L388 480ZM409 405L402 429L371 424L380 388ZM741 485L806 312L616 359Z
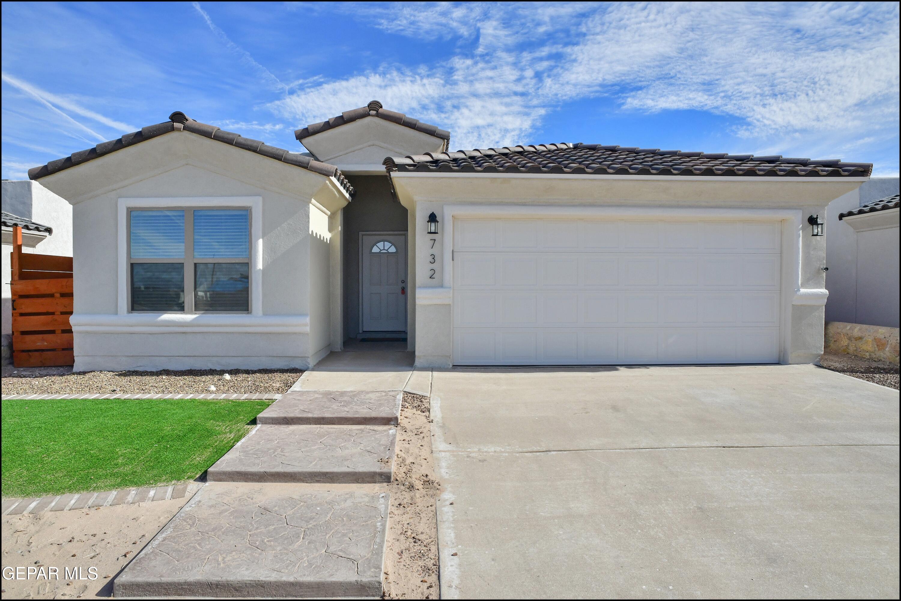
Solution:
M432 376L444 597L898 596L898 393L814 366Z

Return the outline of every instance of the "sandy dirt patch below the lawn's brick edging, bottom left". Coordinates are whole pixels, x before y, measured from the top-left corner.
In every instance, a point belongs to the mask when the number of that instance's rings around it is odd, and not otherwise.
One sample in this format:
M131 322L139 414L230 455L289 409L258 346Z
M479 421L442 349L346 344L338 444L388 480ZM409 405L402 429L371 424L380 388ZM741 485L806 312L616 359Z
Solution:
M112 596L116 574L189 499L4 516L3 568L57 568L59 580L5 579L3 597ZM65 568L80 568L83 579L64 578Z

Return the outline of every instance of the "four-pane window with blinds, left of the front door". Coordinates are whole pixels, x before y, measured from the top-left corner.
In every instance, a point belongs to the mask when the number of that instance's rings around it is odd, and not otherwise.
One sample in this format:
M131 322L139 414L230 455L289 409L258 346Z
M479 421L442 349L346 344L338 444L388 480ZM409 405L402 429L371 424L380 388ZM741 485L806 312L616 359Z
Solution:
M132 209L128 223L131 311L250 313L249 209Z

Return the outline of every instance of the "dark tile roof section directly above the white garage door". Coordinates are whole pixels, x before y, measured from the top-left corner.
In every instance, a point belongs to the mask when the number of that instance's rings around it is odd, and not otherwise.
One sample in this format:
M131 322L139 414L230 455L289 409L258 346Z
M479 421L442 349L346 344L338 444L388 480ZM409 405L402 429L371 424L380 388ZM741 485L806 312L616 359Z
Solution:
M482 173L579 173L662 176L869 177L870 163L839 159L784 159L751 154L707 154L602 144L540 144L487 150L430 152L388 157L388 171Z

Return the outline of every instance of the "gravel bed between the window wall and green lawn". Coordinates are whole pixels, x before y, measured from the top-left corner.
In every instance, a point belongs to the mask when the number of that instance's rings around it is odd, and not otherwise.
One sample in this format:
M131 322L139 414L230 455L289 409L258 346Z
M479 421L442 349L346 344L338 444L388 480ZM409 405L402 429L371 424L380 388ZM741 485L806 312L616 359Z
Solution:
M185 369L79 371L71 368L3 368L5 395L280 395L303 369ZM228 378L225 375L228 374ZM210 390L210 387L215 390Z

